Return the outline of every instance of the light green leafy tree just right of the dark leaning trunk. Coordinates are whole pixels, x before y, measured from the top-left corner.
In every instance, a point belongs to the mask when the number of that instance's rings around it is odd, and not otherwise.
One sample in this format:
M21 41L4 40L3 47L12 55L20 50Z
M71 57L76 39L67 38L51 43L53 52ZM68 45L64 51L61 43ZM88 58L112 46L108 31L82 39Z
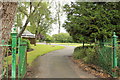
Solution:
M51 30L51 24L54 22L48 4L42 3L41 7L36 11L35 16L31 21L31 26L35 28L35 34L45 35Z

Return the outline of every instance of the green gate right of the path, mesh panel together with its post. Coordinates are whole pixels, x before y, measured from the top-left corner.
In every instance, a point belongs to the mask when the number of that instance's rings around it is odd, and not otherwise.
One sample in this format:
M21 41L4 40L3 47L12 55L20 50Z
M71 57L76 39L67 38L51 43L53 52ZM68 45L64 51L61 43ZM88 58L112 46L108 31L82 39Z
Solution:
M104 71L113 77L118 77L120 68L120 46L117 43L118 36L114 35L111 39L99 42L96 45L98 63Z

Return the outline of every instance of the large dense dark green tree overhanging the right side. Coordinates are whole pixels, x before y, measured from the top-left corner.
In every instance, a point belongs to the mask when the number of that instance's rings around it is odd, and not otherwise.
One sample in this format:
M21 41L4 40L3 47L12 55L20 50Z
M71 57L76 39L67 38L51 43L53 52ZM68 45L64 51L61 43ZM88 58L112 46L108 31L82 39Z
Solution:
M65 5L67 20L65 29L76 42L104 40L115 31L120 32L119 3L75 2ZM117 29L116 29L117 28Z

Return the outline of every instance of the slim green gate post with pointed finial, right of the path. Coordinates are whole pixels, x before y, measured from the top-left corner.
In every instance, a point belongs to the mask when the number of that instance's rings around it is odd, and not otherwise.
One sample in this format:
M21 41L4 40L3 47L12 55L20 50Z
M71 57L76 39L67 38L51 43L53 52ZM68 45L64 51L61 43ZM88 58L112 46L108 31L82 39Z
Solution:
M117 54L116 54L116 45L117 45L117 37L115 32L113 34L113 69L117 67ZM113 72L113 77L117 77L116 71Z

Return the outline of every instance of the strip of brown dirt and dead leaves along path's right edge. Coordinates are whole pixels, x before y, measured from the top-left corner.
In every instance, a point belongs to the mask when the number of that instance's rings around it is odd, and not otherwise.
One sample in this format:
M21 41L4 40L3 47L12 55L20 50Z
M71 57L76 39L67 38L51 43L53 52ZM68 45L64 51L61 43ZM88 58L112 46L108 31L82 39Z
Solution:
M99 78L111 78L111 76L107 73L105 73L100 67L93 65L93 64L85 64L84 61L78 59L75 60L73 57L70 57L70 59L78 65L79 68L81 68L84 71L89 72L90 74L95 75Z

